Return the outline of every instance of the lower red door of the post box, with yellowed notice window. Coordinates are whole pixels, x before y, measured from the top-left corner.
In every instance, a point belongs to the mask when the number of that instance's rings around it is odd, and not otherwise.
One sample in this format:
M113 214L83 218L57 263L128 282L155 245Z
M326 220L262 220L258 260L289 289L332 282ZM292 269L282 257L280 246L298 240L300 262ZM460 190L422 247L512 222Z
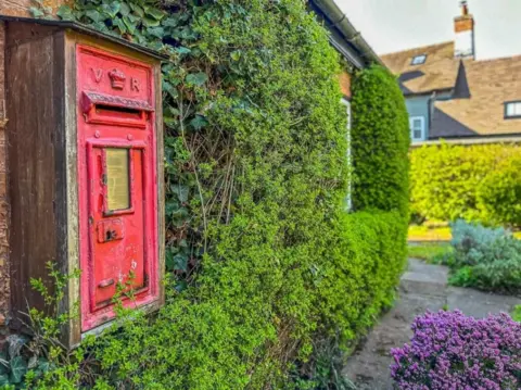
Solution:
M118 291L148 287L142 154L136 147L89 146L92 311L112 304Z

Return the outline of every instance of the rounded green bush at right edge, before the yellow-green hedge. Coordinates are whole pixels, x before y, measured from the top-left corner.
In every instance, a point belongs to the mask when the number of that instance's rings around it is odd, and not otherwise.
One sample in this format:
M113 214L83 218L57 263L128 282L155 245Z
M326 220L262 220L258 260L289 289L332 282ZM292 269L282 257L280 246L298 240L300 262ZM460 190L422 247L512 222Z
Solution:
M521 151L485 177L476 197L484 221L521 226Z

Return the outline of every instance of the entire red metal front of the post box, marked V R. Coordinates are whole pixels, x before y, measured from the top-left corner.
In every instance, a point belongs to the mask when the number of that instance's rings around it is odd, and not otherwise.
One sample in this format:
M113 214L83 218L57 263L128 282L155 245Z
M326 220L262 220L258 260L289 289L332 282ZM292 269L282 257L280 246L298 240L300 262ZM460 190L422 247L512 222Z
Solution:
M78 45L81 330L160 299L154 75L150 64ZM131 297L130 297L131 293Z

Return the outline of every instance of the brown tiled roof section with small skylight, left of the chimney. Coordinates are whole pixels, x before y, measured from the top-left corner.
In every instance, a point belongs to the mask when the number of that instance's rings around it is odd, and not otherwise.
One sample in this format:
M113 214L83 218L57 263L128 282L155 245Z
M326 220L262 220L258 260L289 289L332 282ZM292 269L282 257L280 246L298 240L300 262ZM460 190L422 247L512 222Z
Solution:
M427 55L425 62L412 65L412 59L418 55ZM384 54L381 59L399 76L405 95L450 90L456 84L459 61L454 58L454 42Z

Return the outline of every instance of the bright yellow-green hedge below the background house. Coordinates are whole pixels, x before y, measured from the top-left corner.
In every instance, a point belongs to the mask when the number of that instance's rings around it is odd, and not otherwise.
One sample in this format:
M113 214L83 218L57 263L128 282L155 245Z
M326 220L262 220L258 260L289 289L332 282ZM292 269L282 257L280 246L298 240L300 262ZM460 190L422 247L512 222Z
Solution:
M519 224L519 146L431 146L412 150L410 160L414 213L439 221Z

